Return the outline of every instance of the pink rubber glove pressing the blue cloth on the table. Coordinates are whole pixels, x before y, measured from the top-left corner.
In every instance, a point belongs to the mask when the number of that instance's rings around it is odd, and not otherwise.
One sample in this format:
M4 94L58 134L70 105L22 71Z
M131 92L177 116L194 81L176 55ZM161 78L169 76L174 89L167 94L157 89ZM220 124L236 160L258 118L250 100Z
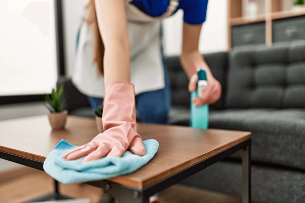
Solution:
M129 82L112 82L105 90L103 109L104 132L91 142L63 156L75 160L86 156L84 162L105 156L122 156L130 149L134 154L145 155L141 136L136 129L134 85Z

